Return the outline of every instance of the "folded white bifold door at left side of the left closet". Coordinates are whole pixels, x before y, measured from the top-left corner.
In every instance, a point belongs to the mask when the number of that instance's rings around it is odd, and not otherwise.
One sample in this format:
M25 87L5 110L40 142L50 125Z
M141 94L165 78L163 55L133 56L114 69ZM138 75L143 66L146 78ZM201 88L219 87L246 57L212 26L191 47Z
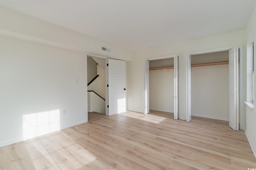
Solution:
M149 113L149 61L145 60L144 114Z

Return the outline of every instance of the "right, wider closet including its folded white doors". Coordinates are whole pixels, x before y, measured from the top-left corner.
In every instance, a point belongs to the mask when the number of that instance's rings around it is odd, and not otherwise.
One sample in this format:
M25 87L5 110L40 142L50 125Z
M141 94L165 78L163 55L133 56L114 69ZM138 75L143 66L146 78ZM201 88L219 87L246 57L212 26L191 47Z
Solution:
M243 129L242 47L187 54L186 83L186 121L195 115Z

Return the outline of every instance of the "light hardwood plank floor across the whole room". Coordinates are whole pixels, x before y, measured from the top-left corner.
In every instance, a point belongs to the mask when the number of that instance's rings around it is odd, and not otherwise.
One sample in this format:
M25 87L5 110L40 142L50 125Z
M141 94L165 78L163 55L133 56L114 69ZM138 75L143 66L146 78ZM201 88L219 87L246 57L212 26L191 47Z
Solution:
M172 113L88 113L88 123L0 147L7 170L247 170L256 158L244 131L228 122Z

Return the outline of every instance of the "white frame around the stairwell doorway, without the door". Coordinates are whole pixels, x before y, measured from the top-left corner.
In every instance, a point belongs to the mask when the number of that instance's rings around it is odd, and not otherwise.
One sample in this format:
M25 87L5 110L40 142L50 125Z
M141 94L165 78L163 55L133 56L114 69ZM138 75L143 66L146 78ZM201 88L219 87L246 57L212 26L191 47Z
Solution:
M103 56L99 56L99 55L92 55L92 54L87 54L86 55L86 100L87 100L87 103L86 103L86 120L88 121L88 96L87 96L87 91L88 91L88 88L87 88L87 57L88 56L91 56L91 57L98 57L98 58L101 58L101 59L105 59L105 64L107 64L107 59L108 57L103 57ZM107 69L107 66L105 67L105 108L106 108L106 115L108 115L108 88L107 88L107 84L108 84L108 69Z

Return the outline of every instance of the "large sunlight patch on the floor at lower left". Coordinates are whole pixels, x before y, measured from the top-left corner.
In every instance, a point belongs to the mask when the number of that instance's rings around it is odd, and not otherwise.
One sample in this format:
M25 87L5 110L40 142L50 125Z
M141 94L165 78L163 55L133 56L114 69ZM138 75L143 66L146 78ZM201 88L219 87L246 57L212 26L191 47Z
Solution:
M47 144L36 140L32 145L26 145L26 151L35 169L72 166L70 168L80 170L96 160L96 156L65 133L57 133L54 137L46 137L44 140ZM48 145L51 141L54 143Z

